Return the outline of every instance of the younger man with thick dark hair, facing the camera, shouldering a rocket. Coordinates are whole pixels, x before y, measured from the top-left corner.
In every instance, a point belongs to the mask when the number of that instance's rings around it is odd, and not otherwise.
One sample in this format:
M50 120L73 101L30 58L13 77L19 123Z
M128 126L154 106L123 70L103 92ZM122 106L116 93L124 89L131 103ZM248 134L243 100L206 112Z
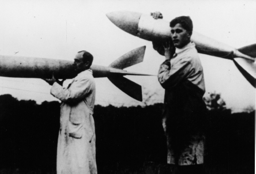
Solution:
M163 18L160 12L151 15ZM180 173L204 173L205 82L198 52L190 40L193 22L189 16L180 16L170 22L170 27L170 40L153 42L154 49L165 56L158 80L165 89L167 163Z

